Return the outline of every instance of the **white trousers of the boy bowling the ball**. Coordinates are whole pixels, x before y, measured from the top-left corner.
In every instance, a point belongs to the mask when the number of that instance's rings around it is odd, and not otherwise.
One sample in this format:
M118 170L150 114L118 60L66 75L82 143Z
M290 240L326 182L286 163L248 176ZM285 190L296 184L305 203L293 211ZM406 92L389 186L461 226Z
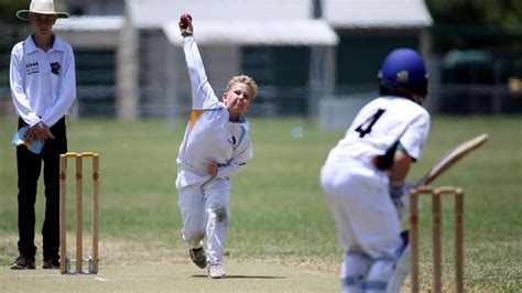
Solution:
M178 191L183 240L189 249L203 247L207 237L207 261L222 263L222 252L230 220L230 181L211 178L205 184L188 185Z

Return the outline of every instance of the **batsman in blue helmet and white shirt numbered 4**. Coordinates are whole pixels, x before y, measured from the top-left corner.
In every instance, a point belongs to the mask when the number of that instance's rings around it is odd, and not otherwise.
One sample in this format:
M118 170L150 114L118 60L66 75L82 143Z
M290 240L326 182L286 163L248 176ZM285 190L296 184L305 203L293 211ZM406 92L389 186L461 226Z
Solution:
M429 131L424 59L395 48L379 72L380 97L368 102L329 152L320 183L344 249L342 292L399 292L409 271L401 216L404 181Z

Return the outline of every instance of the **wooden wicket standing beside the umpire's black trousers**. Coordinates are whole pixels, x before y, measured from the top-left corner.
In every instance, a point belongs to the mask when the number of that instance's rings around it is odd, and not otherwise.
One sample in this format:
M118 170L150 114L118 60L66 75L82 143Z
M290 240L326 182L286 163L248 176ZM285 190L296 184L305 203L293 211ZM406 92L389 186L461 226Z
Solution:
M70 259L67 256L66 225L66 178L67 159L76 159L76 271L70 271ZM83 159L93 159L93 256L89 257L89 268L83 270ZM93 152L68 152L59 155L59 270L67 273L98 273L98 191L99 191L99 155Z

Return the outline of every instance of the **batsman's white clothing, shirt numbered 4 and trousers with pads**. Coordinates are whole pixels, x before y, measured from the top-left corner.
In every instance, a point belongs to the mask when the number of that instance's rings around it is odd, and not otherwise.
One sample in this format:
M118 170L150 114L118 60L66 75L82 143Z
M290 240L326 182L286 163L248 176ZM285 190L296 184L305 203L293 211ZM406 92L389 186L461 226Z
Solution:
M402 97L380 97L366 105L320 171L320 183L345 250L345 292L383 292L400 257L401 223L389 194L389 174L374 165L398 142L421 155L429 115ZM359 267L366 256L369 261ZM356 282L357 281L357 282Z

